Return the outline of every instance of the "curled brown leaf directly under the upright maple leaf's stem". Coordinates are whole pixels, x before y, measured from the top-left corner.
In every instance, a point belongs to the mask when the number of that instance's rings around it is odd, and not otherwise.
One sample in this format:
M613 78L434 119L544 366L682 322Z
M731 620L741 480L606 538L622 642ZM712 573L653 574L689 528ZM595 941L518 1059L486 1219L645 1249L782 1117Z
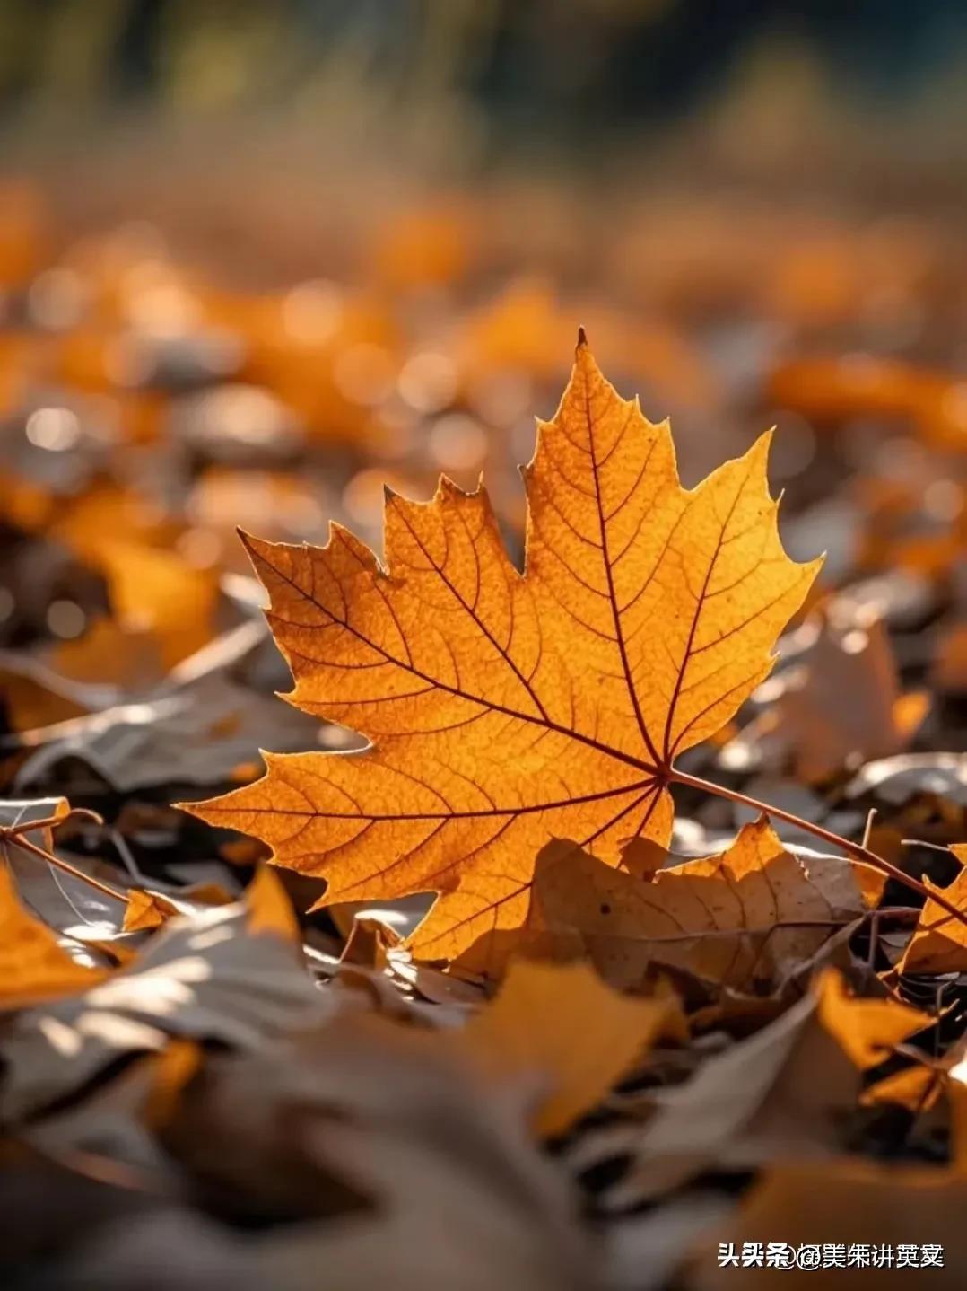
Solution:
M587 954L615 986L640 985L659 962L736 989L775 988L882 891L873 870L793 855L761 817L727 851L660 869L650 883L552 843L538 862L529 931L551 933L552 946L570 935L563 949Z

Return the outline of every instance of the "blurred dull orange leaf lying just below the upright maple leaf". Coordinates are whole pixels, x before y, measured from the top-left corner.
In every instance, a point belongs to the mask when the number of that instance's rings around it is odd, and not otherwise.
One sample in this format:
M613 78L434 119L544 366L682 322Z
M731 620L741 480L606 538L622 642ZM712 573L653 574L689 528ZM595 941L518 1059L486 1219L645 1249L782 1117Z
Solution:
M587 964L520 959L456 1044L490 1075L548 1078L534 1131L551 1136L593 1108L661 1034L686 1038L668 997L630 999Z

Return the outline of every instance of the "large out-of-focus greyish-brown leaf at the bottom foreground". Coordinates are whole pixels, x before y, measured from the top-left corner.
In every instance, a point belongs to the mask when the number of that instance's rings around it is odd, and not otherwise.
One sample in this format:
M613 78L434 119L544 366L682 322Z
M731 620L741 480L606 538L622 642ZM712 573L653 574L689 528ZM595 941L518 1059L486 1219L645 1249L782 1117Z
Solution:
M57 1285L121 1291L147 1268L157 1291L311 1291L320 1270L340 1288L594 1286L578 1198L529 1141L520 1100L467 1084L453 1055L379 1024L347 1017L273 1053L210 1060L164 1143L218 1224L170 1207L104 1224ZM275 1223L250 1223L266 1214Z

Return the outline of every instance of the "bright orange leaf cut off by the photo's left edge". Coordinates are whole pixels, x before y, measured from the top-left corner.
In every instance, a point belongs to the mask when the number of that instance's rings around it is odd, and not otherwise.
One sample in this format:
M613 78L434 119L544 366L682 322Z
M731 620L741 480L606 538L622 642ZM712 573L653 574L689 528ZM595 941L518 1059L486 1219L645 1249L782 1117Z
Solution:
M0 1008L26 1008L86 990L107 973L73 959L46 924L17 900L6 865L0 862Z

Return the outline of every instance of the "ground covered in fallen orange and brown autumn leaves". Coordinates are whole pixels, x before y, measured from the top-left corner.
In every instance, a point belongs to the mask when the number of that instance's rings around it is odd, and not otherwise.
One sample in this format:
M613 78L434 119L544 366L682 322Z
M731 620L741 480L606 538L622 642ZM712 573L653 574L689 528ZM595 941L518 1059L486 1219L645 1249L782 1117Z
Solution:
M955 236L1 199L4 1286L961 1287Z

